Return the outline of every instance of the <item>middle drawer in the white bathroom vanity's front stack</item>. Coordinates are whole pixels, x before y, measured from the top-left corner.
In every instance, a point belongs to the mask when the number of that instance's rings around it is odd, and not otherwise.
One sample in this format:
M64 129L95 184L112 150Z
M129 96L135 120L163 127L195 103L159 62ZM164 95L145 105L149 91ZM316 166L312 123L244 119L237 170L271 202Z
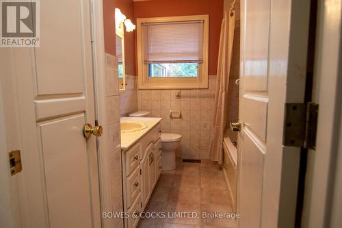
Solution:
M126 197L127 207L131 206L133 200L140 194L140 167L137 166L135 170L126 178Z

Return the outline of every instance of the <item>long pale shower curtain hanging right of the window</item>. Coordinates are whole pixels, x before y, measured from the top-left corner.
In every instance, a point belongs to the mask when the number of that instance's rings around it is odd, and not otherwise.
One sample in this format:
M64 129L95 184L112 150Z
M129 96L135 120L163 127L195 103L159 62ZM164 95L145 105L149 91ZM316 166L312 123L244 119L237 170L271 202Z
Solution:
M221 25L220 49L218 54L218 75L216 77L214 123L210 140L210 159L222 164L222 142L226 128L227 94L231 60L233 52L233 39L235 29L235 11L224 13Z

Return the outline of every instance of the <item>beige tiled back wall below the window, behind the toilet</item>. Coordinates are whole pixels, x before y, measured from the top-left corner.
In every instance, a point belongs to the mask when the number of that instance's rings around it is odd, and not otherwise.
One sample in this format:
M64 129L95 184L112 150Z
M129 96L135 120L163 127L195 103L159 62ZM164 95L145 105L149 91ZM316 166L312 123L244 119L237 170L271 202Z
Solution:
M161 117L165 133L182 135L181 154L185 159L209 158L209 138L213 122L215 75L209 75L209 89L138 90L138 110ZM181 98L176 98L181 92ZM170 119L170 110L181 110L181 119Z

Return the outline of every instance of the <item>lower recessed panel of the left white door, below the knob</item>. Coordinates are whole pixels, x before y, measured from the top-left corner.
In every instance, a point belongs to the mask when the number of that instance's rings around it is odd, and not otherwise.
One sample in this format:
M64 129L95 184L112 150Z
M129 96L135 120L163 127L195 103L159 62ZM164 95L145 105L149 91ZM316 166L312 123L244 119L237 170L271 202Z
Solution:
M92 227L84 114L38 123L51 227Z

